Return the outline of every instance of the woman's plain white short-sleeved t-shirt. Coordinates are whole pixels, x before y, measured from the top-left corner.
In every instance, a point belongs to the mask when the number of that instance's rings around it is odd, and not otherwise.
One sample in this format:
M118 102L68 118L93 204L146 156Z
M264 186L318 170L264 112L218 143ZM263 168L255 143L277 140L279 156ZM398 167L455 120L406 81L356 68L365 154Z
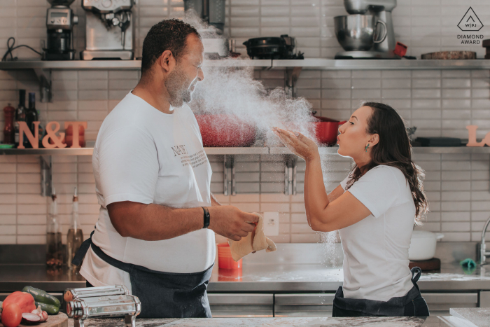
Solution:
M340 183L346 188L349 176ZM374 167L347 190L371 211L339 230L344 250L345 298L387 301L413 287L408 248L415 218L409 184L400 169Z

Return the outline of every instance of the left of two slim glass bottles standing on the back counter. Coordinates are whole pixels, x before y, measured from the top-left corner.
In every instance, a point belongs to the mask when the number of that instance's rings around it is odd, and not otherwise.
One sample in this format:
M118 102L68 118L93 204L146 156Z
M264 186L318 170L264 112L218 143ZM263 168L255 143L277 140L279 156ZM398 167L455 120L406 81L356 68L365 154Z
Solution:
M52 188L52 202L46 228L46 265L59 269L63 265L62 225L58 218L55 188Z

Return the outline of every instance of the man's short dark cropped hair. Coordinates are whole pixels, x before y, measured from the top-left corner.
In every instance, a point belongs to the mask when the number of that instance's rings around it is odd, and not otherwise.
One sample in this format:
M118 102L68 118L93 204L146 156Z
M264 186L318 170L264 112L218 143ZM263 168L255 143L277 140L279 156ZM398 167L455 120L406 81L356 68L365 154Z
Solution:
M151 69L165 50L172 51L172 55L179 61L185 53L186 39L189 34L200 37L194 27L182 20L162 20L153 25L143 41L141 74Z

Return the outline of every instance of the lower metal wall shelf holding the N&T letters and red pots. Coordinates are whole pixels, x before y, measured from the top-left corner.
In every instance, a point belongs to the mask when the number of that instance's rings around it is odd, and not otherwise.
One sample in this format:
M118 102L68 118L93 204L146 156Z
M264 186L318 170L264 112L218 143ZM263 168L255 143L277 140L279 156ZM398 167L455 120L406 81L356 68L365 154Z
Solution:
M92 155L94 148L3 148L0 155ZM255 148L204 148L207 155L290 155L288 148L255 147ZM336 155L337 146L321 146L318 148L321 155ZM416 154L444 154L444 153L481 153L490 154L490 147L416 147Z

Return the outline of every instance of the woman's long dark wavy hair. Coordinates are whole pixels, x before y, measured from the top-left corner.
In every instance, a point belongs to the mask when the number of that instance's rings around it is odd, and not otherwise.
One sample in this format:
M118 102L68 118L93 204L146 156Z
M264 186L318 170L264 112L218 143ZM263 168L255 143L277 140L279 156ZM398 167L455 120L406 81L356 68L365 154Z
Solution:
M378 134L379 142L371 148L371 162L363 167L353 167L347 183L348 190L363 174L378 165L396 167L407 179L415 204L415 223L428 211L428 201L423 193L423 177L426 175L421 167L412 161L412 145L402 118L395 109L387 104L365 102L363 106L372 108L372 115L367 119L367 134Z

